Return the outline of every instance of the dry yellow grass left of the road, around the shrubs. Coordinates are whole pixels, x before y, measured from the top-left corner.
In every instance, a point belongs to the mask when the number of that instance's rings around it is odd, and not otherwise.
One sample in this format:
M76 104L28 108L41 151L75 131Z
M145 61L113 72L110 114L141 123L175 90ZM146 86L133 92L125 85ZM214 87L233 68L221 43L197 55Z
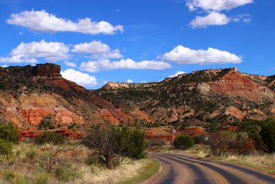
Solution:
M53 170L47 174L43 167L36 162L42 159L50 145L34 145L32 143L19 143L14 145L13 155L9 158L0 158L0 183L59 183L58 176ZM54 146L54 149L59 149ZM133 161L126 159L115 170L107 170L102 165L87 165L87 157L92 151L78 143L68 144L61 147L62 152L58 155L61 166L66 172L59 176L63 183L118 183L126 178L135 176L148 163L148 159ZM67 176L70 173L72 176ZM59 179L60 179L59 178ZM19 182L17 182L19 183Z

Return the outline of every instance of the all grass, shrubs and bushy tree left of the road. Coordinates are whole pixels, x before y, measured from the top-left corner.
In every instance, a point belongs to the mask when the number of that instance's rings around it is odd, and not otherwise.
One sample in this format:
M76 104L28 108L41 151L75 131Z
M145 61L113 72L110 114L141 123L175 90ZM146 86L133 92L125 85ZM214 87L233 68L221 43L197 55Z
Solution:
M146 159L144 133L129 127L94 125L83 141L45 131L19 142L13 123L0 123L0 130L0 183L127 183L159 168Z

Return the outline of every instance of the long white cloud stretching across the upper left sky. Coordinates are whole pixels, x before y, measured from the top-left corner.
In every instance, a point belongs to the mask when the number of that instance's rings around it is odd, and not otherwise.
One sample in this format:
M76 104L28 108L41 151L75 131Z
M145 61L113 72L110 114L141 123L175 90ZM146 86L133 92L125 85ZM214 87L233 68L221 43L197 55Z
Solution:
M81 32L85 34L114 34L123 32L122 25L111 25L107 21L91 21L90 18L72 21L58 18L45 10L23 11L19 14L12 14L7 23L20 25L30 30L39 32Z

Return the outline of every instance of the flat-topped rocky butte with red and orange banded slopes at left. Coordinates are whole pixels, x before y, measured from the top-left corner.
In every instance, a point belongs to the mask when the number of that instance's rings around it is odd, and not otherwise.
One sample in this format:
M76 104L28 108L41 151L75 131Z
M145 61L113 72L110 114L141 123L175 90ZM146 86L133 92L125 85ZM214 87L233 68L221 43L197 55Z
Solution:
M72 123L131 122L131 116L89 90L67 81L52 63L0 68L0 119L22 129L48 121L55 127Z

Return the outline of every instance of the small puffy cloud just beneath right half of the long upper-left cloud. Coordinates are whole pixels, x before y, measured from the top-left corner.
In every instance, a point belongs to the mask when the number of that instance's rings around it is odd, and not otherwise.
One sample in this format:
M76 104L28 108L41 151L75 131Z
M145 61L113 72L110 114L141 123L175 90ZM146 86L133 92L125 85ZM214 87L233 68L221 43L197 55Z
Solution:
M79 43L74 45L72 52L91 54L90 59L118 59L122 58L120 50L111 50L109 45L101 41L91 41L90 43Z

